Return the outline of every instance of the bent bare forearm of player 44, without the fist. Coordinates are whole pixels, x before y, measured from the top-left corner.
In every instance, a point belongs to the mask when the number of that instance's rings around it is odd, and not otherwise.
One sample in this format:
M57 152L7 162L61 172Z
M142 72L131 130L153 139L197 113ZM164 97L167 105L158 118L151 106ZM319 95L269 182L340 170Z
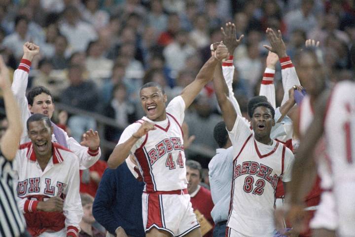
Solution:
M108 168L115 169L122 164L138 140L139 138L131 136L126 142L117 145L107 160Z

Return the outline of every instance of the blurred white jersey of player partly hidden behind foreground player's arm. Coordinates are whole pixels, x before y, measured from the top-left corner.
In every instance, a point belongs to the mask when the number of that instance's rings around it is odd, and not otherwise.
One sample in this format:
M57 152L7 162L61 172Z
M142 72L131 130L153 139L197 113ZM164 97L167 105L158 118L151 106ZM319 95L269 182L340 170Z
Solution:
M307 136L309 125L314 118L314 109L309 95L303 98L299 111L299 135L303 137ZM320 187L324 190L329 190L332 188L333 181L331 179L331 167L329 157L326 153L324 137L320 138L320 141L317 143L315 154L317 154L315 159L318 164L317 170L320 177Z

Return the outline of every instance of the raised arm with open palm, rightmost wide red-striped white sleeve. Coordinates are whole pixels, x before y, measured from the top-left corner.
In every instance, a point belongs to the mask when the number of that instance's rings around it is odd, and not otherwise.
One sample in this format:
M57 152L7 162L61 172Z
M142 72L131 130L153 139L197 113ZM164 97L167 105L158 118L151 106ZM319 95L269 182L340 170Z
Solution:
M276 53L280 58L284 87L284 98L281 103L281 105L283 105L288 100L288 90L293 85L301 85L301 83L299 82L296 70L293 67L290 57L287 56L286 46L284 44L284 40L282 39L281 31L279 30L276 34L271 28L267 28L266 36L271 46L264 45L264 47L269 51Z

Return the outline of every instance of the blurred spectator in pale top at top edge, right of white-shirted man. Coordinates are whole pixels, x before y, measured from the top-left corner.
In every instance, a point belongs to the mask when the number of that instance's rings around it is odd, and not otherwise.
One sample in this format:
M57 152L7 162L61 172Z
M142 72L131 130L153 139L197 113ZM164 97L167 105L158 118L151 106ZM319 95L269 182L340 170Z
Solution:
M82 13L84 20L94 26L96 30L105 27L109 20L106 11L99 9L99 0L84 0L85 9Z

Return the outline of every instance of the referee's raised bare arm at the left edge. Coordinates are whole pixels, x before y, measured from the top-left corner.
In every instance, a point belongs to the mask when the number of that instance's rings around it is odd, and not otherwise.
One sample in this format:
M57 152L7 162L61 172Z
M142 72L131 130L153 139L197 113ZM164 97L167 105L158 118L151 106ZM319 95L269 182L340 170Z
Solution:
M1 139L1 153L7 160L13 160L20 144L22 123L20 110L11 91L11 83L7 67L0 56L0 88L3 93L5 111L9 126Z

